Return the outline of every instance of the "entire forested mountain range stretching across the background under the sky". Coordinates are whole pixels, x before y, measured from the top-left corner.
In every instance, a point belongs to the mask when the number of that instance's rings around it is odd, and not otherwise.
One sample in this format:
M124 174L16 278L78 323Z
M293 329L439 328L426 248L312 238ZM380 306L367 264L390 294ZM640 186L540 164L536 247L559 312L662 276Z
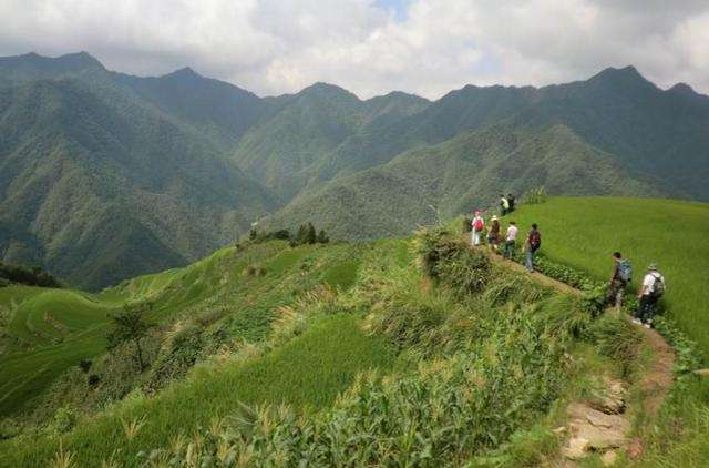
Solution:
M193 262L258 222L402 235L544 185L709 200L709 98L633 67L544 88L259 98L189 68L0 58L0 261L90 289Z

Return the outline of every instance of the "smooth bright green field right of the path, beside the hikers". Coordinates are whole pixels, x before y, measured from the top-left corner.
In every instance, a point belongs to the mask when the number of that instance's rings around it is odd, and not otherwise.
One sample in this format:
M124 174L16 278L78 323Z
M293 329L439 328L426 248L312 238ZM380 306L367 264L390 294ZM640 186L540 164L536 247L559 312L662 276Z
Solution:
M537 223L545 255L599 279L610 277L615 251L631 261L635 287L647 265L658 263L668 284L669 316L709 353L709 204L554 197L522 206L510 220L524 233Z

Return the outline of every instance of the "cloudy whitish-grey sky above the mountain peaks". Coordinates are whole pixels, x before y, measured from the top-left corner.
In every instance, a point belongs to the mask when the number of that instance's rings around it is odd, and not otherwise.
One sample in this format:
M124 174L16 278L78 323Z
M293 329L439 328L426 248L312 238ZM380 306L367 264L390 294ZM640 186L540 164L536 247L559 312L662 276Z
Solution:
M438 98L627 64L708 94L709 0L0 0L0 55L82 50L112 70L189 65L260 95L326 81Z

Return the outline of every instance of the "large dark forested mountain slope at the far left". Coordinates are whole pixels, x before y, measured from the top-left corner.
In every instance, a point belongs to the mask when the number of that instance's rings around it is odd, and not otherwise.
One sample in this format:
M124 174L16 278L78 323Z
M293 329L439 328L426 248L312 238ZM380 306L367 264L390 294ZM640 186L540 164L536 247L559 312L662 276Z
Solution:
M275 206L212 139L93 69L0 88L0 193L2 258L90 288L196 260Z

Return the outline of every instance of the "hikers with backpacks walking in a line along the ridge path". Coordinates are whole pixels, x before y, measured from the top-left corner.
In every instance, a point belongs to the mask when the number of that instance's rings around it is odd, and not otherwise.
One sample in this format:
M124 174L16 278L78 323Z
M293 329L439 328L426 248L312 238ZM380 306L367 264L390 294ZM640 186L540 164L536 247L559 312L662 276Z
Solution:
M505 216L514 211L515 199L512 194L500 195L501 216ZM496 215L490 218L490 224L485 223L480 211L474 212L474 216L470 223L471 226L471 244L476 247L482 245L483 235L486 230L487 246L495 253L501 252L504 258L514 260L517 234L520 228L514 221L510 224L502 235L502 224ZM502 245L502 248L501 248ZM542 233L536 223L531 225L530 231L523 243L525 253L524 266L530 273L534 273L534 256L542 246ZM633 281L633 267L627 258L624 258L620 252L613 254L614 269L608 287L608 303L620 309L625 296L625 292ZM647 273L643 278L643 284L638 289L638 307L634 314L633 323L643 325L646 328L653 327L653 318L657 311L657 303L665 294L665 277L658 271L657 264L651 263L647 267Z

